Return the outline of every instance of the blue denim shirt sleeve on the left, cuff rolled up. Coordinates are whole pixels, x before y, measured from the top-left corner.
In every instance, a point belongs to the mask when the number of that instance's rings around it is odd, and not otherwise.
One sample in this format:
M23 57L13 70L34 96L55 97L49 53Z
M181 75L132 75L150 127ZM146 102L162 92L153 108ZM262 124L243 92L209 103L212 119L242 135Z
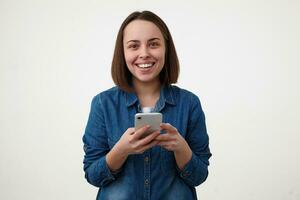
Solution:
M112 173L106 164L105 156L110 151L107 143L105 119L100 95L93 98L91 110L83 136L84 172L87 181L102 187L116 179L119 172Z

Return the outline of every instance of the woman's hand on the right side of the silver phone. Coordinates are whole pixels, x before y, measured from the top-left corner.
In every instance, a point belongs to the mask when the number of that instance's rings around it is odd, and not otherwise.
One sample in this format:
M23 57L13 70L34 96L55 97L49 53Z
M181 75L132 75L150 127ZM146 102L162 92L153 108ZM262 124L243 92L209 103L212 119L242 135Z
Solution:
M162 130L165 130L165 133L155 138L155 140L158 141L157 145L174 152L180 152L181 149L186 147L187 143L185 139L179 134L175 127L169 123L162 123L160 127Z

